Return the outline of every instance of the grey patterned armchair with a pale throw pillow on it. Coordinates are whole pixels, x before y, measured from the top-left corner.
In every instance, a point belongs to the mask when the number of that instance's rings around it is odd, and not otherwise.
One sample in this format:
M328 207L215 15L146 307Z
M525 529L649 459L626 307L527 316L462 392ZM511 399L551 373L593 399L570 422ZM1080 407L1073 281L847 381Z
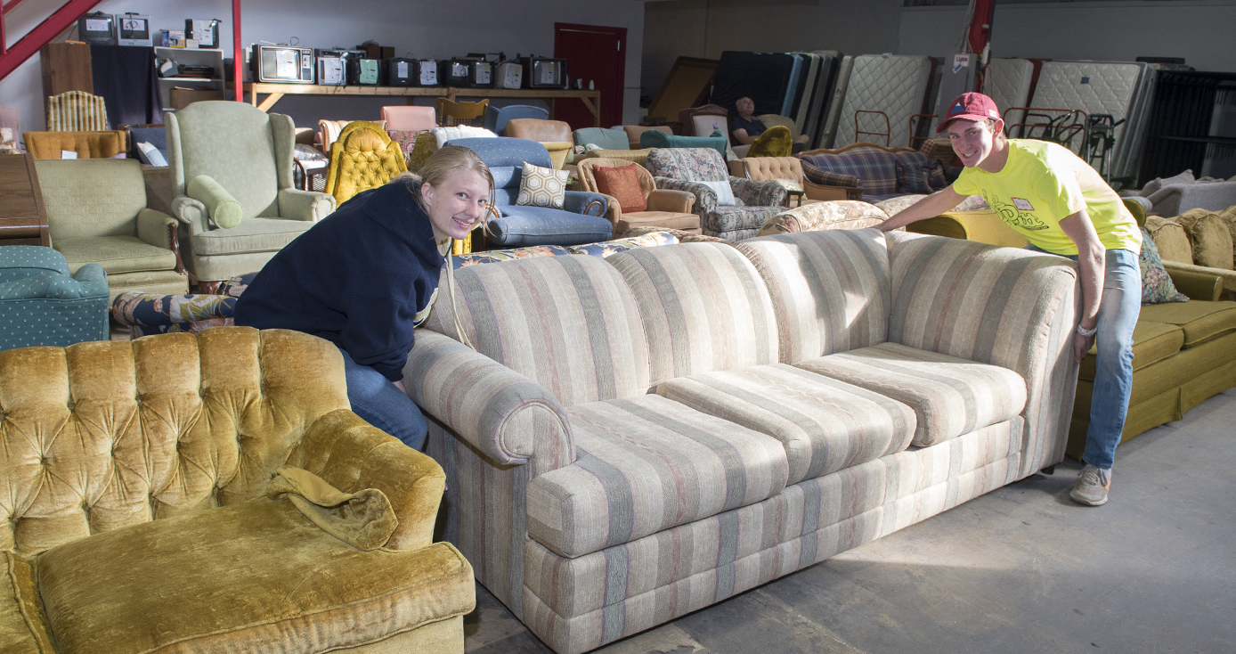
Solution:
M781 184L730 176L726 159L712 148L655 148L648 153L648 169L656 188L695 194L695 213L707 236L750 239L765 220L785 210Z

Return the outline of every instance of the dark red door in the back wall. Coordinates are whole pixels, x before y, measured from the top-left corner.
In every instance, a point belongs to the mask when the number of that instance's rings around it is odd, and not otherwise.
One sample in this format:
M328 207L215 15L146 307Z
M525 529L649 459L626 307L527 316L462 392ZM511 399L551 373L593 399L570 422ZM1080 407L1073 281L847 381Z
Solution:
M554 57L566 59L572 89L575 80L583 79L585 89L592 82L601 91L601 126L620 125L627 77L627 28L555 22ZM554 119L565 120L572 130L596 125L592 113L576 99L556 100Z

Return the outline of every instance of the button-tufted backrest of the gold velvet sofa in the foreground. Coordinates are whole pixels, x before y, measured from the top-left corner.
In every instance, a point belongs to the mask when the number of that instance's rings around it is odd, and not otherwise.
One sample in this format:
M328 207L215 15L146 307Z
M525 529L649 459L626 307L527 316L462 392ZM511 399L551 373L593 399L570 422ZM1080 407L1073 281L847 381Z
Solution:
M262 497L344 359L295 331L216 328L0 352L0 550L22 556Z

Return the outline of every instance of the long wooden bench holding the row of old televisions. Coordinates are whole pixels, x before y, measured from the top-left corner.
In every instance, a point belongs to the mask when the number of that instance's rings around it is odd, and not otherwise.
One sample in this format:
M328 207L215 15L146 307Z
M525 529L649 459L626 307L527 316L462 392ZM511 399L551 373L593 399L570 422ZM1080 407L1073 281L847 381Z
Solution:
M284 95L352 95L393 98L540 98L548 100L550 115L559 98L578 98L592 113L593 126L601 126L601 91L588 89L471 89L462 87L334 87L321 84L245 84L250 101L262 111L269 111ZM258 94L268 94L261 104Z

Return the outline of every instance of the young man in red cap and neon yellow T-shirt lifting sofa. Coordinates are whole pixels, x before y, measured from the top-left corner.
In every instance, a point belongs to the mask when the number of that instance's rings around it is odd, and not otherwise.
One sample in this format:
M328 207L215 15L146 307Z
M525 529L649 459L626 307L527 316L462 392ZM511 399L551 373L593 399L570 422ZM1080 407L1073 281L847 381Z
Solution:
M1082 320L1073 339L1078 361L1098 338L1099 352L1086 431L1085 467L1069 493L1074 502L1107 501L1116 445L1125 428L1133 377L1133 325L1141 310L1137 256L1141 229L1116 192L1068 148L1009 140L991 98L964 93L948 105L937 132L948 130L965 164L952 187L938 190L880 225L889 231L947 211L979 194L1031 250L1078 262Z

